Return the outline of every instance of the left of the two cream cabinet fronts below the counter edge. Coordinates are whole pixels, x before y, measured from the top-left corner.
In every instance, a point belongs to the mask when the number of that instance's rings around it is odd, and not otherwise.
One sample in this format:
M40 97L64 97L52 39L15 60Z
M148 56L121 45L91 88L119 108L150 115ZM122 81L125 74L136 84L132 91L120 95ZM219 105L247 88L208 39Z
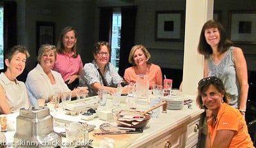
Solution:
M157 138L152 143L152 147L164 148L166 142L169 142L173 147L184 147L184 128L176 129L175 131L169 131L163 136Z

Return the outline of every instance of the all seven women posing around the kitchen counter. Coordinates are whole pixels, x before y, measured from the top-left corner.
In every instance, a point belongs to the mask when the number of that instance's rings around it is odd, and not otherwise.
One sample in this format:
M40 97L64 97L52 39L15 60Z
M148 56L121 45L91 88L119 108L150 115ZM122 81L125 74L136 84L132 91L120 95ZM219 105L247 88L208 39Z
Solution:
M108 89L109 93L113 93L121 82L136 82L137 75L148 75L150 88L154 84L163 85L161 68L150 63L150 53L143 45L132 47L128 60L132 66L125 70L122 78L109 62L111 47L108 42L97 42L93 48L92 63L84 66L76 42L76 31L66 27L61 32L57 48L42 45L38 51L38 64L29 71L26 85L16 77L24 70L26 58L29 57L28 50L21 46L9 50L4 61L7 70L0 75L1 113L10 114L19 108L29 107L30 103L36 105L37 99L49 98L55 93L72 90L75 95L81 91L74 89L78 85L84 86L82 91L86 93L88 87L90 95L97 94L99 89ZM207 115L209 129L206 145L230 147L240 144L242 147L251 147L252 141L244 121L248 82L243 50L233 47L219 22L209 20L202 27L198 52L205 56L205 78L198 83L196 101L201 108L210 111ZM236 121L228 122L230 117Z

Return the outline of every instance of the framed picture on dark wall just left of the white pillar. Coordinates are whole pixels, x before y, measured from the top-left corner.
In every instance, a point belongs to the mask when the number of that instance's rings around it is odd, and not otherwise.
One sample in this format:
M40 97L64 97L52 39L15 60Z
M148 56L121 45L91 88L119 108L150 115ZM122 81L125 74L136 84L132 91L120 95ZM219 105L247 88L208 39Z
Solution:
M184 11L156 11L156 41L182 41L184 39Z

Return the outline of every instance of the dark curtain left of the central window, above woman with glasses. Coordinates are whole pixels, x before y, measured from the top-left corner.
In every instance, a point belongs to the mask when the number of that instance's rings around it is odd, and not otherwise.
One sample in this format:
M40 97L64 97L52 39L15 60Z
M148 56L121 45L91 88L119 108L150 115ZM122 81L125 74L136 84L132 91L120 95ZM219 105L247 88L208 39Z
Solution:
M113 8L100 8L99 41L111 43Z

